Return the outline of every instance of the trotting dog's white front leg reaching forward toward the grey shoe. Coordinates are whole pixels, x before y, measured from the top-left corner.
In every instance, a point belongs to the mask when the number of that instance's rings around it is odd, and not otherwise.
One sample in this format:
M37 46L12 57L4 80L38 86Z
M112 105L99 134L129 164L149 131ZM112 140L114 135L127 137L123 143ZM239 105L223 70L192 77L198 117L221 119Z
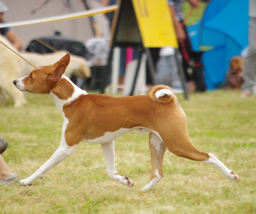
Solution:
M68 146L65 141L61 141L60 147L53 153L52 157L47 160L34 174L29 176L26 179L20 180L20 185L22 186L30 186L37 178L43 178L44 175L49 172L54 166L56 166L60 161L67 158L72 154L76 145Z

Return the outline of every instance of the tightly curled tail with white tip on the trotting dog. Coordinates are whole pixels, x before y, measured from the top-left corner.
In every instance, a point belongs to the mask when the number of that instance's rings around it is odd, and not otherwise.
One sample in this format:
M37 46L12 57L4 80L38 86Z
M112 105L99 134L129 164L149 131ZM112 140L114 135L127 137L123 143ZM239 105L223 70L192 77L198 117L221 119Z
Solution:
M167 85L156 85L150 91L150 98L158 103L169 103L172 101L173 92Z

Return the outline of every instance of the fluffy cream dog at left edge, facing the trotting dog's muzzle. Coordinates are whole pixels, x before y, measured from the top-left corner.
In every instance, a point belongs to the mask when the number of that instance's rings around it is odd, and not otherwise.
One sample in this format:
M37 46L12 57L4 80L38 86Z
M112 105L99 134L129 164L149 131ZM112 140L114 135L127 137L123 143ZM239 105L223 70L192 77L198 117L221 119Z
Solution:
M0 41L17 50L12 44L0 34ZM21 72L21 58L0 44L0 103L6 98L11 97L14 101L14 107L20 107L26 103L24 94L13 85L13 79L20 76Z

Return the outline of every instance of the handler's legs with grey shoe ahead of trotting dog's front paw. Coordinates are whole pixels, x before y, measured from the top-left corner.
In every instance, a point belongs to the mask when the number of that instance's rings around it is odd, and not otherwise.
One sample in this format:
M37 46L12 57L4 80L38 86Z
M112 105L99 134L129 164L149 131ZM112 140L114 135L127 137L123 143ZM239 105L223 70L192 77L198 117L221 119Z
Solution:
M1 155L7 146L7 141L0 137L0 185L11 184L13 181L17 181L17 174L12 173Z

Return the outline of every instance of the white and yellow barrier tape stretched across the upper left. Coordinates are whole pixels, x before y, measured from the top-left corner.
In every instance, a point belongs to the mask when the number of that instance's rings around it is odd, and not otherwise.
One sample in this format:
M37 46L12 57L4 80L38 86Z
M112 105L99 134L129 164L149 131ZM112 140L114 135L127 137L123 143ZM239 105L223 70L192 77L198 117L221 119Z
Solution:
M36 19L26 20L26 21L4 23L4 24L0 24L0 28L22 26L22 25L34 25L34 24L41 24L41 23L47 23L47 22L57 22L57 21L64 21L64 20L70 20L70 19L76 19L76 18L84 18L84 17L88 17L88 16L97 15L100 13L112 12L112 11L115 11L117 8L118 8L118 6L116 4L114 4L114 5L110 5L107 7L95 8L95 9L80 11L80 12L75 12L75 13L68 13L68 14L59 15L59 16L36 18Z

